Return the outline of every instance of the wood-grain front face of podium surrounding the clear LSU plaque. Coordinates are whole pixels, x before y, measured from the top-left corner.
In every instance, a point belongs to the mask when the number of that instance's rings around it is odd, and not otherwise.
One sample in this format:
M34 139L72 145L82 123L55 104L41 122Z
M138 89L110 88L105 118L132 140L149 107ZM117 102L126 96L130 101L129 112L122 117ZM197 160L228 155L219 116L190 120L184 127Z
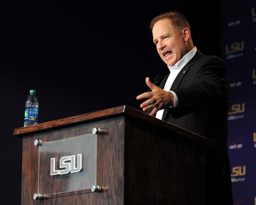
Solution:
M81 190L47 195L42 201L33 200L38 186L38 147L34 146L34 140L52 141L79 136L91 133L94 127L107 129L107 134L97 137L97 184L108 187L107 192L92 193L91 190ZM120 204L124 194L124 128L124 117L118 117L23 137L21 204Z

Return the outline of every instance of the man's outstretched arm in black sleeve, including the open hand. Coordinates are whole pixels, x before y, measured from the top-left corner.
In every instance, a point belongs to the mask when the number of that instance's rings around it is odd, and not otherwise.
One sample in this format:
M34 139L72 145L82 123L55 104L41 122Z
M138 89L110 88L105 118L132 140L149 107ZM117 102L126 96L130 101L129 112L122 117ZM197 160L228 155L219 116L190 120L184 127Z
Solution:
M155 86L149 78L146 78L146 84L152 92L137 96L138 100L149 98L140 105L143 111L153 108L149 115L154 115L158 110L174 105L172 93ZM177 94L178 106L170 109L184 109L185 112L182 115L186 115L208 103L214 104L224 97L227 86L229 85L227 85L225 63L216 57L206 59L189 86L173 90Z

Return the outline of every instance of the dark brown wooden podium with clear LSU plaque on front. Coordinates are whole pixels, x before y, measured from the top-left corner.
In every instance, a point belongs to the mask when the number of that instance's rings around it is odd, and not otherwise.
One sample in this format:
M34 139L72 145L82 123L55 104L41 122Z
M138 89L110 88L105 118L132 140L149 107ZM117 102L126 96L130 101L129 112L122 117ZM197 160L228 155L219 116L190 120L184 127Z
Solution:
M93 128L99 128L94 129L95 137L91 134ZM15 129L14 135L23 139L22 205L206 203L205 163L207 155L214 149L215 142L134 108L115 107L18 128ZM81 140L83 135L96 139L95 152L90 151L96 153L96 170L91 170L92 165L89 165L90 156L87 152L83 154L82 169L86 180L80 178L81 172L51 176L49 169L56 171L58 166L52 169L52 161L47 158L48 155L40 154L40 146L35 145L41 143L43 147L44 144L56 142L55 145L62 147L66 142L64 139L80 136ZM87 146L84 149L94 149L92 145L85 143L77 147L81 149ZM70 147L68 145L68 149L72 149ZM76 145L73 149L76 151ZM54 149L51 154L53 152L56 161L63 157ZM40 161L44 156L47 163ZM78 164L78 161L76 163ZM83 187L94 179L88 178L87 169L96 176L96 184L89 184L90 187L96 185L96 189L91 190L87 187L72 191L73 186ZM57 181L53 184L52 179ZM39 189L49 193L38 193ZM42 194L43 199L34 200L34 194ZM41 197L37 195L35 199Z

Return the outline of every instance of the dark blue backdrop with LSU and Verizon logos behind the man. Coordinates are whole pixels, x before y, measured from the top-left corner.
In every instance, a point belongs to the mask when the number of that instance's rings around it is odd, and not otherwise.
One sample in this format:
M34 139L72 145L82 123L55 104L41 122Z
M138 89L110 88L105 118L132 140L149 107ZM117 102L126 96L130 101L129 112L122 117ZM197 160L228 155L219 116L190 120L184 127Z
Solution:
M230 78L228 152L234 205L256 205L256 2L221 3L222 59Z

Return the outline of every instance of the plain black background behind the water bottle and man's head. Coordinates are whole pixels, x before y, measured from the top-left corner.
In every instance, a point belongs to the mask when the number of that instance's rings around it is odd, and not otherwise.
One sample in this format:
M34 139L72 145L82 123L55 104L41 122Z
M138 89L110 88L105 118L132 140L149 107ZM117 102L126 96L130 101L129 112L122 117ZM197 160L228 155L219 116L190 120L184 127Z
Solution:
M200 6L186 0L1 6L3 200L21 200L22 140L13 131L23 126L29 90L35 89L39 98L39 123L100 110L146 91L147 76L168 72L149 23L172 10L187 17L201 52L220 57L219 1ZM126 104L139 109L136 100Z

